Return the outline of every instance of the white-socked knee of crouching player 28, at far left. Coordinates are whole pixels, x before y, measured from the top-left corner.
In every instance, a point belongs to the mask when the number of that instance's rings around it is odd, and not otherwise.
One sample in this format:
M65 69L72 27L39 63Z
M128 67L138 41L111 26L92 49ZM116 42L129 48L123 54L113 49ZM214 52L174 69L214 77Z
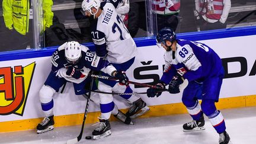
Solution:
M40 102L44 104L49 103L50 101L52 101L53 94L55 94L55 92L55 89L47 85L43 85L43 87L41 87L39 91Z

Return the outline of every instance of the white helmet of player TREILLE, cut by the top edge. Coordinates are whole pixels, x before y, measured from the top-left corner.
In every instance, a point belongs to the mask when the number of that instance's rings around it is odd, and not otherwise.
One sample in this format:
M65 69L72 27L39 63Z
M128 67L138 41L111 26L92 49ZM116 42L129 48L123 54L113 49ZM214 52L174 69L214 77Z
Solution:
M88 11L92 14L92 8L96 8L97 9L97 12L98 12L98 9L100 8L100 0L84 0L82 2L82 10L83 11ZM92 15L95 15L97 12L95 12L94 14Z

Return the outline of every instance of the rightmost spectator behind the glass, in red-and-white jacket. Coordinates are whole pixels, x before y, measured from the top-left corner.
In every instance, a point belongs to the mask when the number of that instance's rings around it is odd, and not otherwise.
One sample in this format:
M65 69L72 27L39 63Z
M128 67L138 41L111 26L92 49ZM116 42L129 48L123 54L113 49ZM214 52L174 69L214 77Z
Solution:
M194 15L200 30L226 28L231 0L195 0Z

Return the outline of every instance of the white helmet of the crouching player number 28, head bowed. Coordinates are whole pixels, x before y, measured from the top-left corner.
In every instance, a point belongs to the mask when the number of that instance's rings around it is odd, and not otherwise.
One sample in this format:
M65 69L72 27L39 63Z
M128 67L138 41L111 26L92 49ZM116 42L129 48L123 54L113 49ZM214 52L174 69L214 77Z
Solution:
M76 41L69 41L65 46L66 60L71 64L78 63L82 56L81 45Z

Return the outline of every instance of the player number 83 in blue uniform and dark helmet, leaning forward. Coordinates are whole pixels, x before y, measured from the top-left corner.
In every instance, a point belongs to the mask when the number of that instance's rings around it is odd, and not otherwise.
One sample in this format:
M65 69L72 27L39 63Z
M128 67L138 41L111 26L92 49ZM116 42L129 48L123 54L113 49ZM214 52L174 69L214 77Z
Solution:
M183 125L183 131L204 130L204 113L219 133L219 143L231 143L222 113L215 106L224 76L220 57L206 44L176 39L176 34L168 27L159 31L156 42L166 50L164 73L156 87L165 88L169 84L168 91L177 94L183 84L182 77L184 82L188 82L182 101L193 120ZM147 93L148 97L161 95L158 89L152 88ZM201 105L199 99L202 100Z

